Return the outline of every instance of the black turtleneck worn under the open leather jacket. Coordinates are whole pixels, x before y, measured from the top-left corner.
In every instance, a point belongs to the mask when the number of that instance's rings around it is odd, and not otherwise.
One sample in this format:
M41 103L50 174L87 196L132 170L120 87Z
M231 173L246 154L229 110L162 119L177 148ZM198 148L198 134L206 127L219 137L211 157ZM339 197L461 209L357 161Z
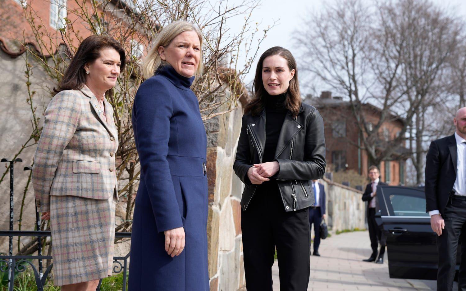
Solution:
M265 149L262 162L272 162L275 158L278 136L288 109L285 108L285 95L266 96Z

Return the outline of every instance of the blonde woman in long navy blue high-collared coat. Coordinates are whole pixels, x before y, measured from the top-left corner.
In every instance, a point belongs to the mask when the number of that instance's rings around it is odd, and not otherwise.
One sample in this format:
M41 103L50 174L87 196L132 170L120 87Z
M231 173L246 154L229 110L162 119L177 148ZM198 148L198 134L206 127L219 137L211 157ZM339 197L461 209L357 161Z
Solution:
M143 63L132 122L141 177L133 216L130 291L208 291L206 129L190 89L202 36L164 27ZM155 74L155 75L154 75Z

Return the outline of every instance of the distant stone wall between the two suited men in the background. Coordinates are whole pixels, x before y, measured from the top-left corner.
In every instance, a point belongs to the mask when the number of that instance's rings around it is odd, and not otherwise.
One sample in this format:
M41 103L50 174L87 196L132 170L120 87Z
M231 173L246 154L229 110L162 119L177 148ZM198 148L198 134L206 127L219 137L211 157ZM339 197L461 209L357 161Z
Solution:
M319 180L325 187L327 225L329 229L366 229L366 203L361 200L363 192L334 183L327 178Z

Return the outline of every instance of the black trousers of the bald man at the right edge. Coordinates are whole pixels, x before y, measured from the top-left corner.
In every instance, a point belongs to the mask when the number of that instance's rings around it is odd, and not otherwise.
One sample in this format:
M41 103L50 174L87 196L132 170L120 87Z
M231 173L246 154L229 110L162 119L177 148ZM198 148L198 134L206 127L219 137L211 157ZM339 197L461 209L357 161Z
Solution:
M455 277L458 239L461 241L461 263L458 274L458 290L466 291L466 200L452 195L443 216L445 229L437 237L439 271L437 290L452 291Z

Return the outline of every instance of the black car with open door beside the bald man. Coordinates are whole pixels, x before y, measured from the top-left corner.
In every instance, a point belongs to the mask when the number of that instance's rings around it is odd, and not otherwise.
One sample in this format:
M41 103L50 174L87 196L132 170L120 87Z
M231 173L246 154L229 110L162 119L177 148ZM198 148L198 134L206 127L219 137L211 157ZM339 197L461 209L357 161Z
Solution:
M436 280L436 234L425 212L424 188L379 186L377 202L376 221L386 237L390 277ZM460 255L458 251L457 272Z

